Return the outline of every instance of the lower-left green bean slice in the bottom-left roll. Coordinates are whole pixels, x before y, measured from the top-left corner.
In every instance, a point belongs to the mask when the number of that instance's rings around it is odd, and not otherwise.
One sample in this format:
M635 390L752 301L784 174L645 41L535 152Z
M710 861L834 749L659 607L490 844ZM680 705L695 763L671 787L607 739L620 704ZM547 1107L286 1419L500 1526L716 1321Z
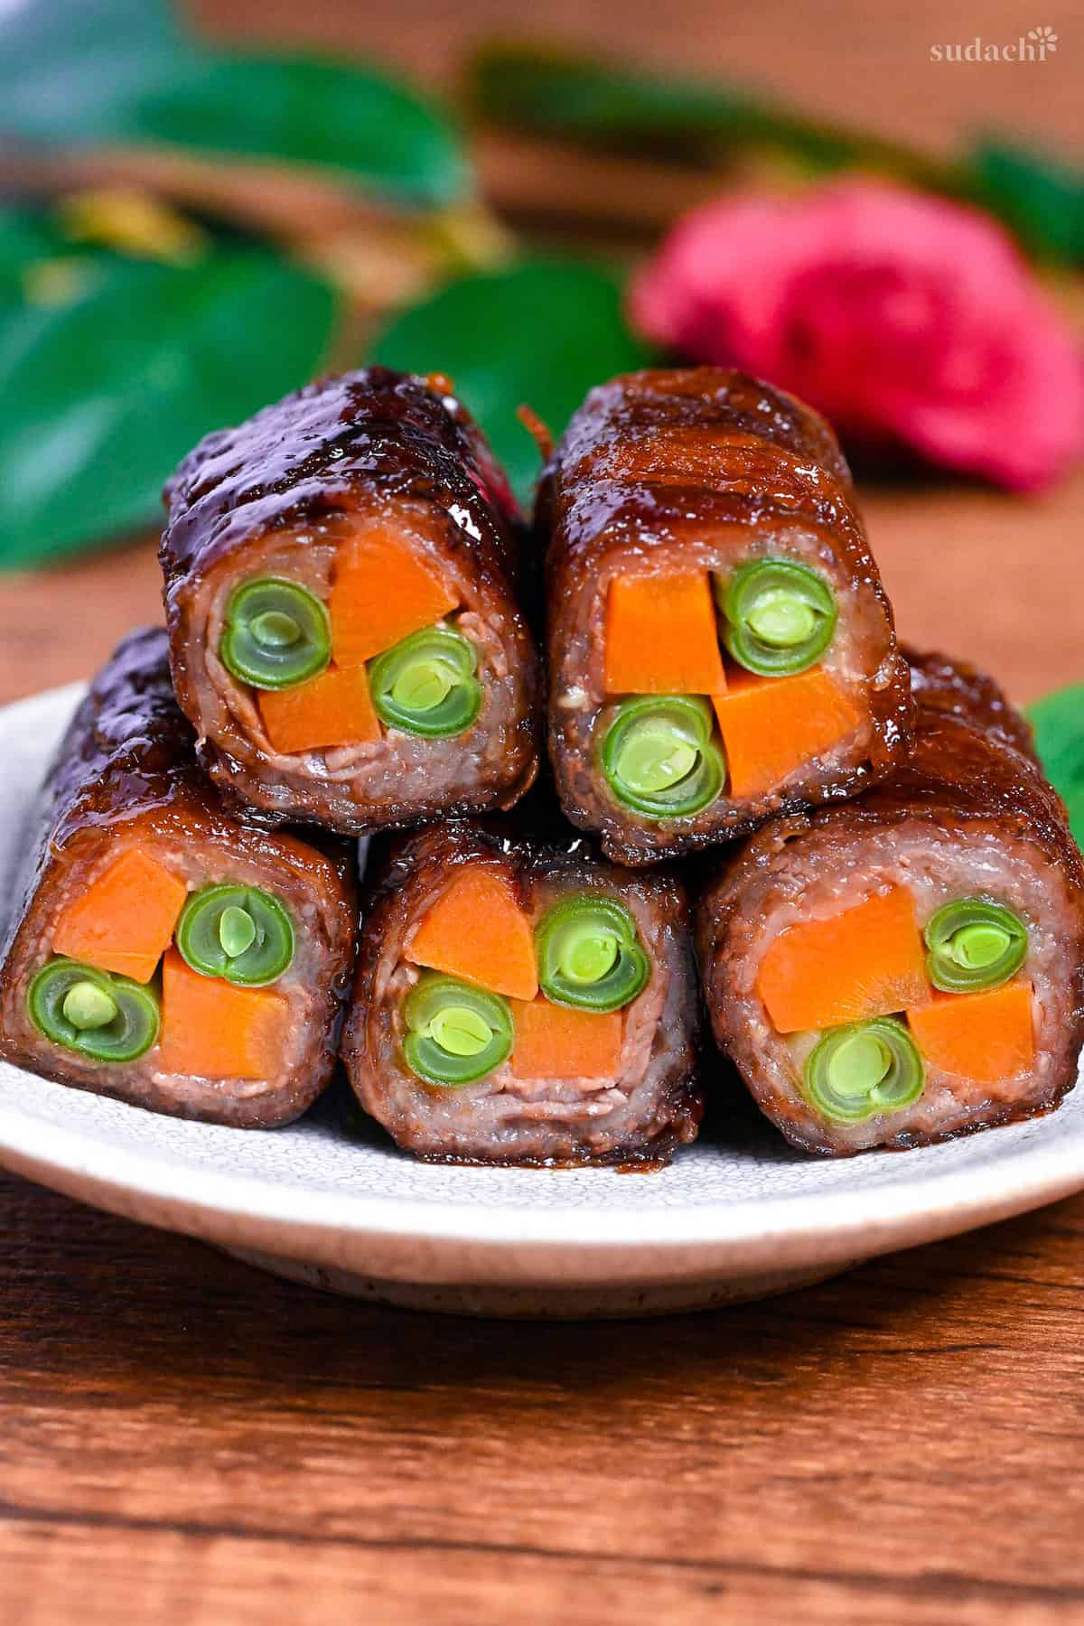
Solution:
M161 1021L153 989L60 954L31 982L26 1008L46 1039L96 1062L135 1062Z

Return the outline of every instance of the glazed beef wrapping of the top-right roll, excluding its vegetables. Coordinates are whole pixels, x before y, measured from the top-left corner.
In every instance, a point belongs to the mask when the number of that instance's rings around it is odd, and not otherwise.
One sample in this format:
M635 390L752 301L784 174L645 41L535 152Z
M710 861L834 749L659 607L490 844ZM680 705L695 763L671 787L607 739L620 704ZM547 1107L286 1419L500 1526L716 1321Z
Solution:
M566 815L608 857L653 863L748 834L772 813L855 795L907 751L912 702L892 610L839 444L814 411L743 372L632 372L592 390L543 476L548 535L549 754ZM720 569L780 554L821 569L839 602L822 663L865 714L856 737L770 793L720 795L647 820L606 785L600 746L611 577Z

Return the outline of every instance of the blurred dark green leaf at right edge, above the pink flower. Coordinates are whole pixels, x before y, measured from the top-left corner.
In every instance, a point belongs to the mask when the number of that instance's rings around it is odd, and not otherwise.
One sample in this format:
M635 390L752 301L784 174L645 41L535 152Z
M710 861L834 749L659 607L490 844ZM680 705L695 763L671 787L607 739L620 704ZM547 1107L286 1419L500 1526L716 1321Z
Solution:
M980 197L1037 254L1084 260L1084 171L986 140L973 150Z

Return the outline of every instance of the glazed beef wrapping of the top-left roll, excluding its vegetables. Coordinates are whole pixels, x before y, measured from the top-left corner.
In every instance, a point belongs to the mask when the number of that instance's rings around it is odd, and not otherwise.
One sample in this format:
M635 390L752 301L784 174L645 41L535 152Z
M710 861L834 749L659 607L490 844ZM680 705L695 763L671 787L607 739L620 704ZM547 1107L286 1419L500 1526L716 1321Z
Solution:
M538 657L522 608L520 520L489 446L440 377L367 367L208 434L166 486L161 541L177 699L200 761L268 823L345 834L512 806L538 769ZM488 698L463 735L276 756L250 691L218 662L229 592L258 574L327 598L359 517L414 517L479 629Z

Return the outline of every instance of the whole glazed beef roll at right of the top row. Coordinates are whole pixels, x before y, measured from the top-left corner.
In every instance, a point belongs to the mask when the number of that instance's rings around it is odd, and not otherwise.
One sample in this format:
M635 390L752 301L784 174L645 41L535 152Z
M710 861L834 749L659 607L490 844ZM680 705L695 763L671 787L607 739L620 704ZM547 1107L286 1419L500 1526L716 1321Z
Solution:
M907 746L892 611L827 424L720 367L634 372L540 488L549 753L621 863L855 795Z

